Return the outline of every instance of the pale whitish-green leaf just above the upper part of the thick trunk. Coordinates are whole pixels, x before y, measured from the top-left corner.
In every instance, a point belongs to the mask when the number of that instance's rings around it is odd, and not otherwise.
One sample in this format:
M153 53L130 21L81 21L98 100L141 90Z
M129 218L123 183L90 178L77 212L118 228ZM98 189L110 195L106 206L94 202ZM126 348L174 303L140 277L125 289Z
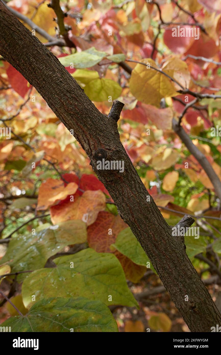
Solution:
M80 53L74 53L58 58L58 60L60 60L61 64L65 67L73 65L74 68L84 69L94 66L104 57L106 57L105 52L100 52L96 50L95 47L91 47L81 51Z

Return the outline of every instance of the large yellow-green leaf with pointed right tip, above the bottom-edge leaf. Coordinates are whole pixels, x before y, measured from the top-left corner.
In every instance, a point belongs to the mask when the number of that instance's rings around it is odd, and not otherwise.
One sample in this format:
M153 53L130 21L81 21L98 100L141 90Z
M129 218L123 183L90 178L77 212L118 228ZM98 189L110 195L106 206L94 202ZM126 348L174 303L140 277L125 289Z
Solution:
M138 306L115 255L85 249L53 262L56 268L34 271L24 280L22 298L26 308L32 305L32 295L36 296L36 300L52 296L84 296L100 300L108 306ZM110 296L112 301L109 301Z

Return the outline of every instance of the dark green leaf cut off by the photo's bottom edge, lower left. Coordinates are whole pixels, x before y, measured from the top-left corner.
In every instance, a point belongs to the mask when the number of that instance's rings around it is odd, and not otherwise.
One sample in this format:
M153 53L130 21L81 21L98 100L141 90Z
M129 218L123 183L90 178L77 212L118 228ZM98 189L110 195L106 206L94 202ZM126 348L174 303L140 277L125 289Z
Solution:
M26 316L11 317L1 326L11 332L118 332L109 308L84 297L44 299Z

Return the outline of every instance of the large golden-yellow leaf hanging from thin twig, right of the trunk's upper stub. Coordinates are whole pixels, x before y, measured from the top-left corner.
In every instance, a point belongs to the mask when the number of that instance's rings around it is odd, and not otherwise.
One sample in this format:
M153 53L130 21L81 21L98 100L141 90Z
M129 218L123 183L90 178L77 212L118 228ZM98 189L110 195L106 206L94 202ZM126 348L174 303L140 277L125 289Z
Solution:
M142 59L142 62L147 66L137 64L132 70L130 91L141 102L159 107L162 98L177 95L175 86L167 76L148 68L148 63L157 68L151 58ZM170 77L174 74L174 70L165 69L164 72Z

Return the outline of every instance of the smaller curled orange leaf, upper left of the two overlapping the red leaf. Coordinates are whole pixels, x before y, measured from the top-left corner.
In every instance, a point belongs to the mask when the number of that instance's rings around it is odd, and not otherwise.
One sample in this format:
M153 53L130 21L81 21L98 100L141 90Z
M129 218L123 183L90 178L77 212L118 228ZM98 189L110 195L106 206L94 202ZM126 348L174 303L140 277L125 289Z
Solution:
M75 182L70 182L64 187L62 180L49 178L40 186L37 209L45 210L56 201L64 200L67 196L74 195L77 189L78 185Z

